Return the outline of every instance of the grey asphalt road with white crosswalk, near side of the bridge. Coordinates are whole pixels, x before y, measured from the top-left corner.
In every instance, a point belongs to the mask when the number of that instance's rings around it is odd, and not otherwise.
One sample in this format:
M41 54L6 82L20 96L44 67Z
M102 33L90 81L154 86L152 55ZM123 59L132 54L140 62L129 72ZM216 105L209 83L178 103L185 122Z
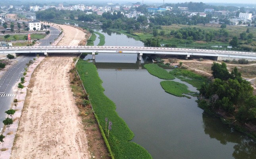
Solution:
M6 118L5 111L10 109L11 103L15 98L14 94L17 91L17 84L23 76L24 68L29 60L33 60L35 55L26 55L15 58L17 63L13 65L0 79L0 129L4 126L3 120Z

